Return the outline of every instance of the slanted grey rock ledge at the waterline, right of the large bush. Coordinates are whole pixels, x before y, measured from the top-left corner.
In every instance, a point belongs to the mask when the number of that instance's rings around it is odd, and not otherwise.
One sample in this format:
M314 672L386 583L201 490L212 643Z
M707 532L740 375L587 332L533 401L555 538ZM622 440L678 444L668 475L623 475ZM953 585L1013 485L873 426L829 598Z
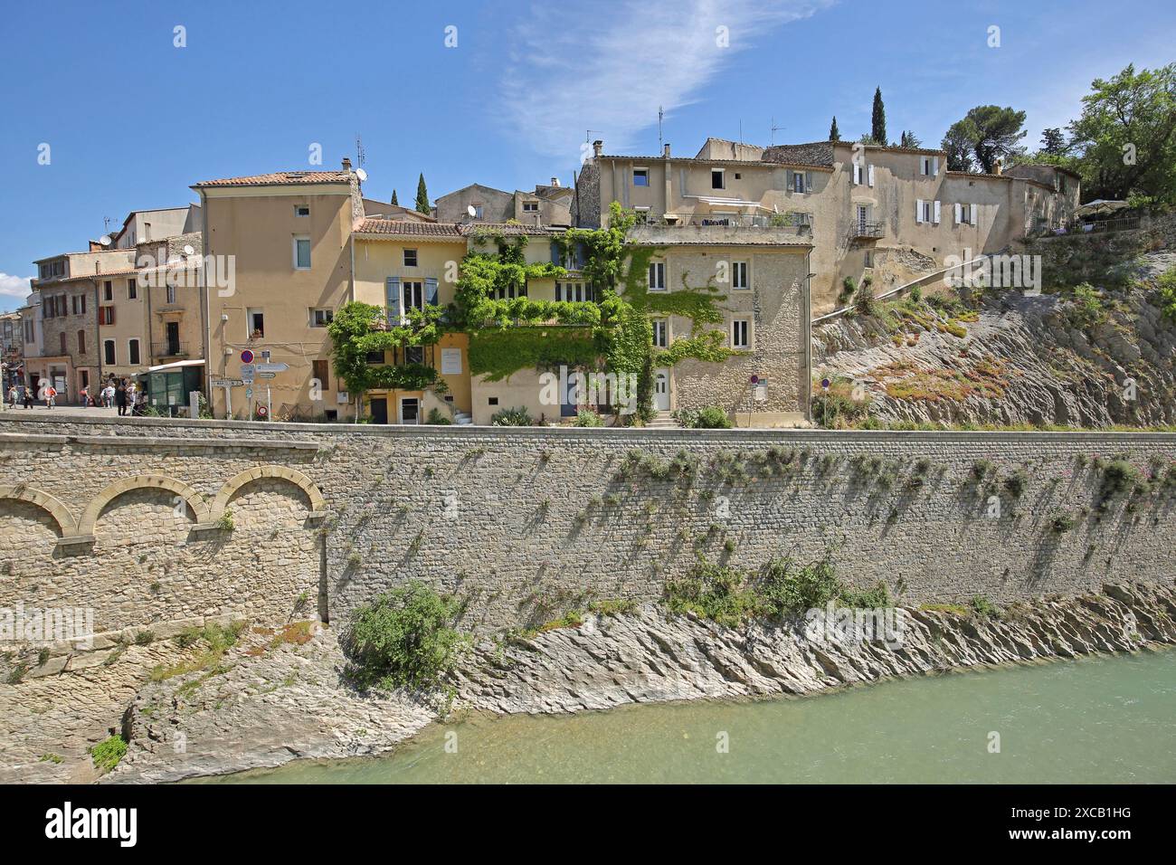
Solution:
M657 607L580 627L483 644L459 677L461 700L500 713L575 712L626 703L809 694L898 676L1130 651L1176 641L1176 590L1108 585L998 617L908 610L897 645L816 638L801 624L733 630Z

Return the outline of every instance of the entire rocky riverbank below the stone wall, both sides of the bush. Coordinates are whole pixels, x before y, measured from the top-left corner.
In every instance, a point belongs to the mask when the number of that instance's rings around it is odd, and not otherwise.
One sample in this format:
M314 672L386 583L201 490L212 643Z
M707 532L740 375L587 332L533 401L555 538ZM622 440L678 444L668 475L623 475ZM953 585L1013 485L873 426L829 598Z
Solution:
M955 607L903 616L897 640L843 640L804 623L729 628L649 604L532 638L483 640L454 676L452 703L353 690L330 630L315 627L306 643L269 650L267 638L254 638L212 672L143 687L123 723L127 756L102 780L174 781L299 758L377 756L450 708L575 712L809 694L977 665L1145 650L1176 643L1176 587L1115 584L993 616Z

